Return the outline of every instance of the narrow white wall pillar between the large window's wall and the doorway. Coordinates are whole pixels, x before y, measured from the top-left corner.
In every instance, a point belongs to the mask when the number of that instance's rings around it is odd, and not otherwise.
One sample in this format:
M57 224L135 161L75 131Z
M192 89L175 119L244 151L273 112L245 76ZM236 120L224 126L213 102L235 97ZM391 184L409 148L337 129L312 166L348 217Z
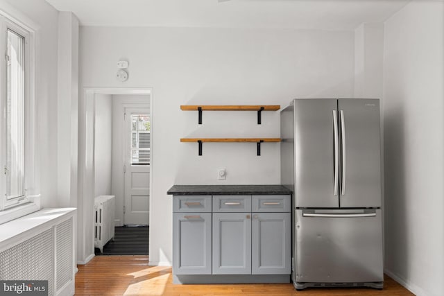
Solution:
M60 207L77 206L78 19L58 14L57 195Z

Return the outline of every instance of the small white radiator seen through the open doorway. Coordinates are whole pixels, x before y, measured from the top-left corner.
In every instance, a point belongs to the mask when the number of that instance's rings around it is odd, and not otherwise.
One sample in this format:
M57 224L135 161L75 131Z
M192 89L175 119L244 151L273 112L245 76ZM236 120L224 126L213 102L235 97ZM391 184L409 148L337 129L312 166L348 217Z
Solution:
M103 252L103 246L114 240L114 195L101 195L94 199L94 247L99 247Z

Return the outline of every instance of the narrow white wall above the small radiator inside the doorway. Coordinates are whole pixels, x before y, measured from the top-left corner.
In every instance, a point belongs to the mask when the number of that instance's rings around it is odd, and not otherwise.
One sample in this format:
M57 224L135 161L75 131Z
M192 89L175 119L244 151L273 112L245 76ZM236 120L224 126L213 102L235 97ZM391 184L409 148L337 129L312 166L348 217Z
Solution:
M94 116L95 195L112 195L112 96L96 94Z

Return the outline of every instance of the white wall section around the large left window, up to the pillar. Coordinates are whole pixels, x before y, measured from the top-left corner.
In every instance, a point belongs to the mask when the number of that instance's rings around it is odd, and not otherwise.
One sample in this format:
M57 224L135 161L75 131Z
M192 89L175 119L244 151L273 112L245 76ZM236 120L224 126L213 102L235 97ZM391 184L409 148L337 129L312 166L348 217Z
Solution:
M58 11L44 0L0 1L0 9L36 32L35 108L36 181L42 207L68 206L58 201Z

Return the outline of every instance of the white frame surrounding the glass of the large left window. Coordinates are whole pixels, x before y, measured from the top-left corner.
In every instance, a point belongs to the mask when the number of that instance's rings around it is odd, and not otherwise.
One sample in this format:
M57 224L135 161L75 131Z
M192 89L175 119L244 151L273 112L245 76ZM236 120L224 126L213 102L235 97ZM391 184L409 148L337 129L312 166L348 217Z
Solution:
M10 198L6 195L7 178L3 173L6 164L6 143L0 143L0 224L31 214L40 209L39 188L35 182L35 31L13 17L0 12L0 109L6 112L7 104L7 46L8 30L24 37L24 195ZM6 116L0 116L0 137L7 132ZM4 141L1 141L4 142Z

